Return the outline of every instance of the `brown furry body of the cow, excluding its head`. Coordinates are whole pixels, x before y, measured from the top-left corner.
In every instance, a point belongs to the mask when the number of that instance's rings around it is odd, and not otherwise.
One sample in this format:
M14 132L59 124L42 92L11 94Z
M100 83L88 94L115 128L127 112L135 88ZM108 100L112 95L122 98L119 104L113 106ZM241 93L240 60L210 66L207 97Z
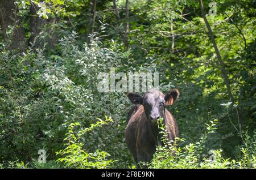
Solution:
M177 123L170 112L165 109L164 123L168 133L168 139L174 140L179 136ZM160 145L159 128L156 123L150 123L144 113L143 105L138 106L137 112L131 115L125 130L126 143L134 157L134 160L148 162L156 151L156 145Z

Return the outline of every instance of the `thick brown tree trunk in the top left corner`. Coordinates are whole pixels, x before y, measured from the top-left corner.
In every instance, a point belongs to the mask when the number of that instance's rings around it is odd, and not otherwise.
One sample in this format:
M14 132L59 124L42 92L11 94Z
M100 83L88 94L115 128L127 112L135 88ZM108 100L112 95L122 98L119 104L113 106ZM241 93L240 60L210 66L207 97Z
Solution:
M15 0L0 1L1 28L5 40L10 40L7 49L18 49L20 52L24 52L27 48L25 31L21 25L19 16L16 15L18 7L16 7L14 2ZM7 34L9 25L14 27L14 31L11 35Z

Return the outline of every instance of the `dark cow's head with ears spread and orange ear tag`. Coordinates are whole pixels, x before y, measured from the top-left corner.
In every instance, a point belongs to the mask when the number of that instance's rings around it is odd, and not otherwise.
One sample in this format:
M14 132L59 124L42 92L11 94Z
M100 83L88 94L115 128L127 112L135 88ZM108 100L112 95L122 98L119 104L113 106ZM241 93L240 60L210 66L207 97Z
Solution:
M163 117L166 105L172 105L179 97L179 91L172 89L166 95L157 89L150 89L144 96L137 93L128 93L127 97L133 104L142 104L146 117L150 121L156 121Z

